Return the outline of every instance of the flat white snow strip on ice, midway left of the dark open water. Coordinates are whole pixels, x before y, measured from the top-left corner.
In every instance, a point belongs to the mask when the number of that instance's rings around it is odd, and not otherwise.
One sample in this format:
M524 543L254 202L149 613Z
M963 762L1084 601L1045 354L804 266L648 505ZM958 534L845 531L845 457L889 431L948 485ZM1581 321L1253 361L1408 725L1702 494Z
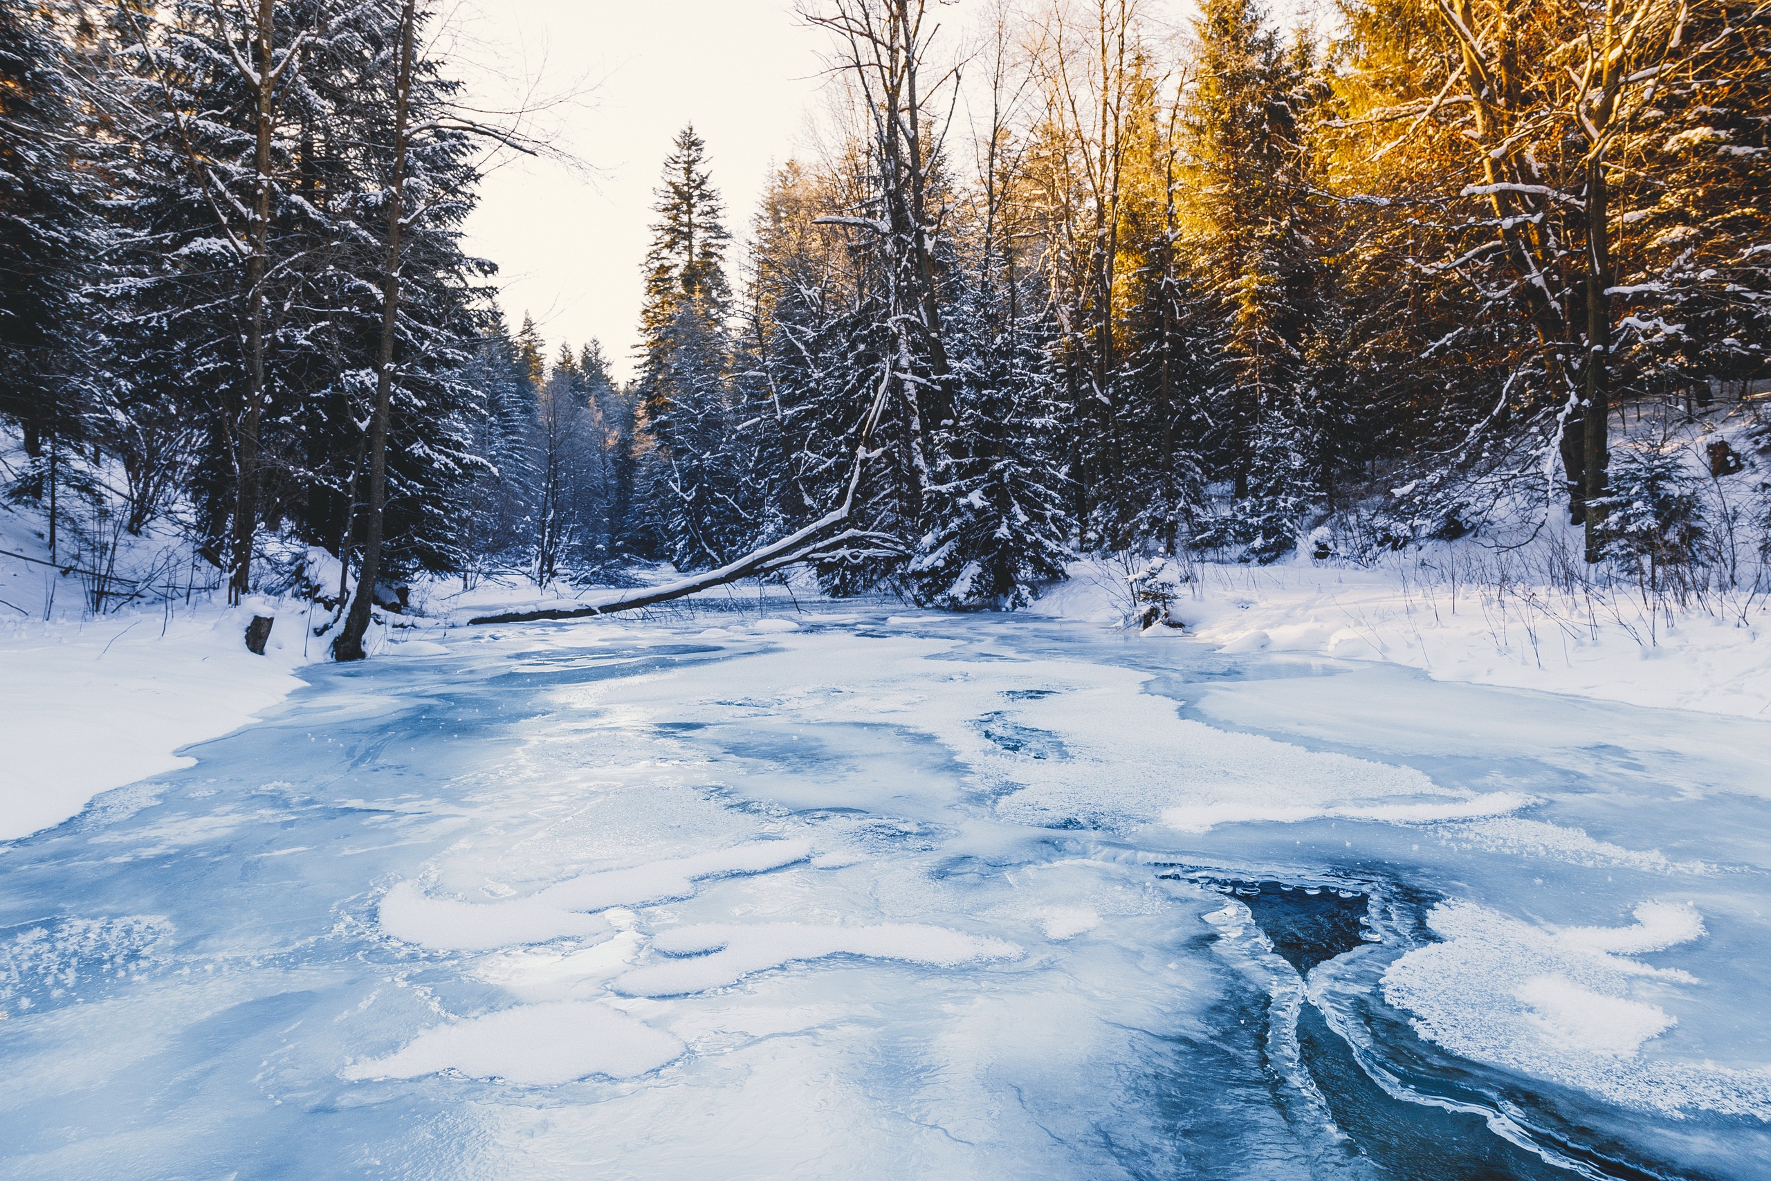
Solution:
M616 992L630 997L680 997L735 984L753 972L825 956L955 967L976 960L1013 960L1022 954L1020 946L1001 938L976 938L921 922L877 926L698 922L659 933L652 940L652 949L692 958L659 960L634 969L616 977Z

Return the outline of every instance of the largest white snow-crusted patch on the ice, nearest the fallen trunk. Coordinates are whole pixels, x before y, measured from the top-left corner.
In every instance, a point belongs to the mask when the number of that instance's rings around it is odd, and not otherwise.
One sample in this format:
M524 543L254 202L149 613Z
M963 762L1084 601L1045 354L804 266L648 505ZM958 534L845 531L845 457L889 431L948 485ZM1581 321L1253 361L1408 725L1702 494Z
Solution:
M1162 823L1201 832L1238 820L1341 814L1417 823L1489 816L1530 802L1527 793L1449 788L1406 767L1187 721L1172 701L1144 691L1148 673L1132 669L953 659L960 653L951 639L861 645L822 637L818 646L815 662L797 646L753 655L733 685L700 673L623 683L620 708L700 724L758 719L769 726L916 728L972 770L1004 818L1036 825L1125 830ZM930 660L942 657L949 669L932 673ZM588 687L572 699L600 710L611 705L611 692ZM974 724L983 703L990 703L988 726ZM1041 754L1029 758L1025 742L1004 742L1009 733L1043 735Z

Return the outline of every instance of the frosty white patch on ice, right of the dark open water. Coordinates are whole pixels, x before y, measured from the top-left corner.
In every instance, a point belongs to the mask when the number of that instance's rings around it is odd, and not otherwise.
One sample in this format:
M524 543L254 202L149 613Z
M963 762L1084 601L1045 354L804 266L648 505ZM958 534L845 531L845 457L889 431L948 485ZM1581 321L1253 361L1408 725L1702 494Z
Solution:
M1543 928L1468 901L1438 903L1427 922L1445 942L1392 963L1383 999L1463 1057L1667 1115L1771 1121L1771 1071L1642 1055L1677 1023L1659 1002L1698 981L1626 956L1700 938L1704 921L1695 907L1661 901L1638 905L1635 917L1622 928Z

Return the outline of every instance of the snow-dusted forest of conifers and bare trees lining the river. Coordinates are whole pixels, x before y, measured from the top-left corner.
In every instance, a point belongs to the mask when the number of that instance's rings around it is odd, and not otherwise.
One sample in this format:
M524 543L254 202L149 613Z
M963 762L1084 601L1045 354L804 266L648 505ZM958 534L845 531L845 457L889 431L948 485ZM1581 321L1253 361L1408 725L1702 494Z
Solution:
M1544 529L1766 579L1764 485L1716 483L1771 444L1760 0L806 0L818 151L731 211L717 145L659 145L630 382L466 250L487 152L547 149L441 19L0 0L0 480L90 609L299 590L356 659L421 574L758 552L947 609ZM1718 400L1704 464L1626 434Z

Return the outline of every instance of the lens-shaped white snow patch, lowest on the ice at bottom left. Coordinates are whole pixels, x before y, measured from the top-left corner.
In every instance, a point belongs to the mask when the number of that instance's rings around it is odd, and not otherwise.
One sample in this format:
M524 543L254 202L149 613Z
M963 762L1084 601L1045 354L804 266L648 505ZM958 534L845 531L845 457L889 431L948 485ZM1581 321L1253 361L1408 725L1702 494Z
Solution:
M347 1066L344 1077L418 1078L457 1069L473 1078L553 1087L590 1075L634 1078L682 1052L673 1034L606 1004L560 1000L427 1029L397 1054Z

